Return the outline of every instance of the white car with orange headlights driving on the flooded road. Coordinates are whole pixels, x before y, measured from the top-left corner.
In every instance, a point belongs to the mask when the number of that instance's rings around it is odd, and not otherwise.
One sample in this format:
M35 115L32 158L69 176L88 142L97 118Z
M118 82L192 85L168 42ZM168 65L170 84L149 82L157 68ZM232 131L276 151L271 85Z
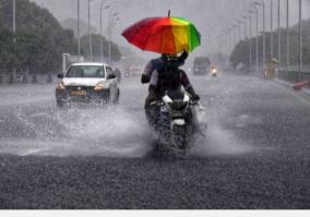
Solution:
M110 65L105 63L74 63L65 74L59 74L56 87L58 107L72 103L109 101L118 104L120 89Z

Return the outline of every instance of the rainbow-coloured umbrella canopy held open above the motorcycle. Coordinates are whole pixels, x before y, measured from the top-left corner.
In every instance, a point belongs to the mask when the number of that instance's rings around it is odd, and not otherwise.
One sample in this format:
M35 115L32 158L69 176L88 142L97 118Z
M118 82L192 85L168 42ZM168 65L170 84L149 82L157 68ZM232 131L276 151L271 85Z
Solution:
M180 17L144 19L124 29L122 36L142 50L158 53L191 52L200 46L195 26Z

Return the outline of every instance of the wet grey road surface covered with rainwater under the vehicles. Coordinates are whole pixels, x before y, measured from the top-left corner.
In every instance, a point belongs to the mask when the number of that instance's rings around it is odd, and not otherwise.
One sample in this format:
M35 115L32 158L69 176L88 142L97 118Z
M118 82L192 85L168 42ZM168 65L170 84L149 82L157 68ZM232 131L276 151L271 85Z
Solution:
M310 208L310 99L231 72L191 79L208 129L187 159L152 150L138 77L109 108L0 87L0 207Z

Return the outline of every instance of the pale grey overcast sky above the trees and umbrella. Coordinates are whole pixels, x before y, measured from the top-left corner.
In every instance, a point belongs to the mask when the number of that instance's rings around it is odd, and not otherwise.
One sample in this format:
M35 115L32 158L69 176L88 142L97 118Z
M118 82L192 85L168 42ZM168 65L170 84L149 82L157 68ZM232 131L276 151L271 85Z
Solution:
M76 17L78 0L33 0L39 5L47 8L59 21L69 17ZM81 1L81 19L87 22L87 0ZM257 0L261 1L261 0ZM274 2L274 27L277 26L277 1ZM290 4L290 24L298 22L298 1L289 0ZM92 0L91 20L92 24L99 29L99 5L102 0ZM202 46L195 53L208 53L218 48L218 35L223 29L237 23L248 10L254 0L107 0L107 4L115 5L115 11L119 12L120 22L114 29L114 40L121 45L127 45L120 36L122 29L134 22L148 16L166 16L168 10L171 10L172 16L182 16L192 21L202 35ZM270 20L271 0L265 0L266 19ZM286 25L286 0L282 3L282 25ZM305 19L310 17L310 0L302 0L302 13ZM262 10L259 10L262 17ZM104 25L107 26L108 10L104 11ZM262 26L262 22L260 22ZM270 22L266 24L270 29ZM254 22L253 22L254 29Z

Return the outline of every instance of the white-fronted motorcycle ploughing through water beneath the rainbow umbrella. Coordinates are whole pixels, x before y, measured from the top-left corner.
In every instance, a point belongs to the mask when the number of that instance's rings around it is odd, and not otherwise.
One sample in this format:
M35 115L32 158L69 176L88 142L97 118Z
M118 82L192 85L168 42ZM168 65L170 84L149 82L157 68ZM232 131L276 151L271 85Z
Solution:
M155 131L158 133L157 149L188 155L193 147L194 133L203 135L203 128L198 118L204 119L204 108L181 91L166 92L166 95L153 105L158 106L155 124Z

